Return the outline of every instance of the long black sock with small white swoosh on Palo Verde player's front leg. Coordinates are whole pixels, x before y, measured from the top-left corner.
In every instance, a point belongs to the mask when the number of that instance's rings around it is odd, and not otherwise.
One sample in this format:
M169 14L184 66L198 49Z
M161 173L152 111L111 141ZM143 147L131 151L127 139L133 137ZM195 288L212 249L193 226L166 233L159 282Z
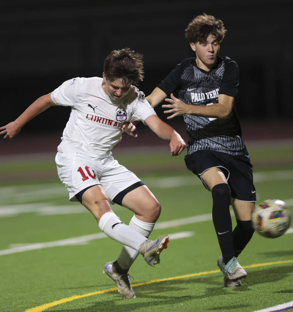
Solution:
M225 264L235 256L230 215L231 189L228 184L215 185L212 190L213 222Z

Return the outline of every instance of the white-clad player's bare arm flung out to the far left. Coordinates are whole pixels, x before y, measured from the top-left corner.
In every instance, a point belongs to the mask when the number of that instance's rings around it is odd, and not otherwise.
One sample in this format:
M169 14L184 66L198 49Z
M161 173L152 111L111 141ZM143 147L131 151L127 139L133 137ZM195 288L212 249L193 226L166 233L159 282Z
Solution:
M17 119L0 127L0 134L4 134L4 139L14 138L29 120L52 105L56 104L51 99L51 93L39 97Z

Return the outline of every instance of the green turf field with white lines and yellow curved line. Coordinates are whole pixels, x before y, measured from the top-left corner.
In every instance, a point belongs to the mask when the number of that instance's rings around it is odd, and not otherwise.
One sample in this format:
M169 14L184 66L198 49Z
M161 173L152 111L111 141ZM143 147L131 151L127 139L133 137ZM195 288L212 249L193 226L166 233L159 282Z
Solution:
M292 211L293 148L249 150L258 202L279 198ZM150 238L170 235L159 265L148 266L141 256L133 264L137 298L122 300L112 280L102 274L121 246L101 234L84 207L68 201L54 158L14 159L0 165L0 311L251 312L293 300L293 231L277 239L254 234L238 258L247 278L241 287L224 288L216 266L220 249L211 196L185 168L184 155L140 151L114 156L137 173L161 203ZM131 212L112 208L129 222ZM232 221L236 223L234 217Z

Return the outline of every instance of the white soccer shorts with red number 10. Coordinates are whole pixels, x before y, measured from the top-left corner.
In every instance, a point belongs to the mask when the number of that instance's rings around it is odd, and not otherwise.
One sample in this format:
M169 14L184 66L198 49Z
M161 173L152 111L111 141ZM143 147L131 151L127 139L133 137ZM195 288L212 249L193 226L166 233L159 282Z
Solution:
M83 189L101 184L113 204L112 199L118 193L140 181L112 156L100 159L79 153L57 152L55 162L58 176L67 188L71 202L78 201L75 195Z

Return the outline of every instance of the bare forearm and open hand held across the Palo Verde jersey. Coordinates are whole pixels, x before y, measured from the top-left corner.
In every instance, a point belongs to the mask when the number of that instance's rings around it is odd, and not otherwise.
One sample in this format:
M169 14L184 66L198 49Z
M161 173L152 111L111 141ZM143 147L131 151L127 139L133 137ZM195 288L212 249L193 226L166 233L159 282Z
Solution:
M165 110L164 114L172 114L171 116L168 116L167 119L186 114L211 118L227 118L233 108L234 97L219 94L219 103L198 106L185 104L181 100L177 99L173 93L171 93L171 99L165 99L165 101L170 104L164 104L162 107L170 108L170 110Z

